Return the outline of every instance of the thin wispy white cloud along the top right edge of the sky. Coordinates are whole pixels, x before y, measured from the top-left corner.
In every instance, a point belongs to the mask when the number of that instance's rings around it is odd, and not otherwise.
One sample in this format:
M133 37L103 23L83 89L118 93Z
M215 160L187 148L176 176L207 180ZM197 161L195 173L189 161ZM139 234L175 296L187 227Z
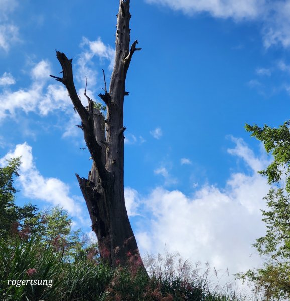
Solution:
M290 47L289 0L146 0L146 2L181 10L188 15L208 13L216 18L254 20L261 25L266 48L276 44L285 48Z

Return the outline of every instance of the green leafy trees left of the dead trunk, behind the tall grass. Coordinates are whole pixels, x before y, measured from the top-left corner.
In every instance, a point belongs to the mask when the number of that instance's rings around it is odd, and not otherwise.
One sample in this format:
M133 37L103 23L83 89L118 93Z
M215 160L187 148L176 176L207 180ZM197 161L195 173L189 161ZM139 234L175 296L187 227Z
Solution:
M72 219L63 208L55 206L40 211L35 205L15 204L14 180L20 164L20 158L14 158L0 168L0 239L13 240L15 235L22 239L33 237L44 247L53 245L55 251L65 251L66 258L98 254L96 244L90 243L80 230L72 230Z

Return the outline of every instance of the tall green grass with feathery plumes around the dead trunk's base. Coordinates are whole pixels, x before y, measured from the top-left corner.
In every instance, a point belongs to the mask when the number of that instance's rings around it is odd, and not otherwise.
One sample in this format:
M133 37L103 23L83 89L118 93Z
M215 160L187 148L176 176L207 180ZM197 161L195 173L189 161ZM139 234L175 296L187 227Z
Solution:
M111 269L88 256L69 262L62 250L34 239L0 239L0 300L3 301L244 301L232 286L213 287L211 269L183 261L178 253L144 258L141 270ZM132 258L128 258L131 260ZM213 270L218 278L218 272ZM8 285L8 280L53 280L46 285Z

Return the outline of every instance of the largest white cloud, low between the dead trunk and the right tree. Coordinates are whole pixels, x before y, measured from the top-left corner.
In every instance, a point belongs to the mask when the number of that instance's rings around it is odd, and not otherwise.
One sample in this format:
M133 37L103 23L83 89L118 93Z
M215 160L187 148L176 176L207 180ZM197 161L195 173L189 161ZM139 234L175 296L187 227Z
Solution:
M139 213L149 216L136 234L142 253L157 254L166 244L171 253L179 251L191 262L208 261L216 269L228 267L230 274L261 264L251 244L264 234L260 209L265 209L263 197L269 187L256 170L266 161L242 139L233 141L236 145L228 152L243 159L251 168L249 175L233 173L225 188L204 185L191 196L162 187L140 196ZM165 169L159 172L168 175Z

